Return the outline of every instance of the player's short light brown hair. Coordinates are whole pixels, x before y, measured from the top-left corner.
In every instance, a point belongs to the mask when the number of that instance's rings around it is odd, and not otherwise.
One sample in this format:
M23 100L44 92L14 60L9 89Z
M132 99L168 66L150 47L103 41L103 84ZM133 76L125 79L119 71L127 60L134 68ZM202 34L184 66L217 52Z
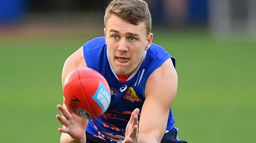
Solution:
M148 4L143 0L113 0L110 2L105 11L105 27L110 14L115 14L133 25L145 22L147 33L151 31L151 14Z

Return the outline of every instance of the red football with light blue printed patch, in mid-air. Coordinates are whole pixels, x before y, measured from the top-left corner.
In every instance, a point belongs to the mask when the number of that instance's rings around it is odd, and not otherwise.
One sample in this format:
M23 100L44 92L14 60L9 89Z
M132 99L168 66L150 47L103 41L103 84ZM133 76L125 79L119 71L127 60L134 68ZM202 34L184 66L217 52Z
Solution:
M67 109L88 119L101 116L111 99L107 80L87 67L74 69L67 75L63 94Z

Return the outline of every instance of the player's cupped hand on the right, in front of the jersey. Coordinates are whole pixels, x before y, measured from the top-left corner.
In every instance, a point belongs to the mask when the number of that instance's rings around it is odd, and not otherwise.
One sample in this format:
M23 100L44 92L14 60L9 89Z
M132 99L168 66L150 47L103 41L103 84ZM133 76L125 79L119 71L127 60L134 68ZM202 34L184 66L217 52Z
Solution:
M125 139L122 143L138 143L138 113L140 110L136 108L131 114L131 118L125 129Z

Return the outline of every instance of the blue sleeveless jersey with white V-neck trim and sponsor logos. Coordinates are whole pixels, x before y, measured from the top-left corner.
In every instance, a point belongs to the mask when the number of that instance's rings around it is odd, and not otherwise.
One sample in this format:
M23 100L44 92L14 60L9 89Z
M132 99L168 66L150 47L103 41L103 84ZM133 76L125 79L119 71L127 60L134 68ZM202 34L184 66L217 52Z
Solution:
M94 38L83 45L87 67L101 73L107 80L111 90L111 101L107 111L99 118L89 120L86 131L99 138L113 143L124 139L125 127L134 109L142 109L145 100L145 86L150 74L168 58L175 59L163 47L151 44L144 51L144 59L140 67L125 82L121 82L110 64L105 37ZM174 128L174 118L170 109L167 130Z

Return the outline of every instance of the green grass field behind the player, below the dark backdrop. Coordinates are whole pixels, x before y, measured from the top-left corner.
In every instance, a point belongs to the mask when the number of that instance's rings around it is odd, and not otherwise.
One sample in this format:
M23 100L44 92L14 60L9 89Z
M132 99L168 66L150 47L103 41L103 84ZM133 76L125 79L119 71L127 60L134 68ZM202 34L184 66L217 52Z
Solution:
M99 35L99 34L98 34ZM65 59L95 35L0 36L1 143L57 143ZM256 42L204 31L157 31L153 42L177 60L172 105L189 143L254 142Z

